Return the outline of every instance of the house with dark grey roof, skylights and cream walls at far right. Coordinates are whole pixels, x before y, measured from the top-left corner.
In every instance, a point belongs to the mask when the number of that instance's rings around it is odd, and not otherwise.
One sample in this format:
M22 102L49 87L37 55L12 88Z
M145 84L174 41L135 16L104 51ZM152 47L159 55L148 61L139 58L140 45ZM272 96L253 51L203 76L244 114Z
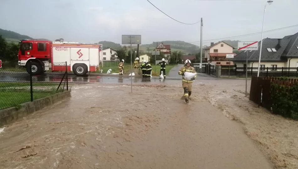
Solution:
M259 50L245 50L231 59L237 67L258 67L261 41L258 43ZM284 38L263 39L260 70L265 68L295 68L298 67L298 33ZM256 69L257 71L257 69Z

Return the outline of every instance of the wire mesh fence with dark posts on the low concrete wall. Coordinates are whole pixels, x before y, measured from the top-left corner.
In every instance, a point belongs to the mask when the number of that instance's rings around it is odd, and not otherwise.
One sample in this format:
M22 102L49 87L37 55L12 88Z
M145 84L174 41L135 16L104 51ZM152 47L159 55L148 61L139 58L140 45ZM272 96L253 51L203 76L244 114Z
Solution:
M69 90L67 66L63 67L65 71L59 75L36 76L32 75L33 69L28 73L25 68L0 68L0 110Z

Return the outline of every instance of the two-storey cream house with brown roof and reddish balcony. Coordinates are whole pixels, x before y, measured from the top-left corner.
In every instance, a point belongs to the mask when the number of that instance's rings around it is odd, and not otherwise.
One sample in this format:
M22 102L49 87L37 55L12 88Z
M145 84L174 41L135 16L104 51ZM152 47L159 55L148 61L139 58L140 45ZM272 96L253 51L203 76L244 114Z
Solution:
M235 48L223 41L211 42L210 46L204 49L205 54L203 54L202 59L214 62L216 65L233 64L229 59L226 59L227 54L234 54L233 49Z

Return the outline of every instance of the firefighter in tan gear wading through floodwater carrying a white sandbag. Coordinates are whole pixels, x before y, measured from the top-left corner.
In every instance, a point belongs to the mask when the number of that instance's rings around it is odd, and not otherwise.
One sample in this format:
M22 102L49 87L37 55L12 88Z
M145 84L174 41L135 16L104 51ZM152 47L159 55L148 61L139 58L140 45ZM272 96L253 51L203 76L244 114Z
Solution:
M178 74L182 75L182 87L184 89L184 99L186 103L189 103L189 97L191 95L191 87L192 87L192 83L193 80L196 78L196 75L191 78L190 80L185 80L184 79L184 73L185 72L191 72L191 73L196 73L194 67L191 67L190 64L190 60L187 59L185 60L185 65L179 70Z

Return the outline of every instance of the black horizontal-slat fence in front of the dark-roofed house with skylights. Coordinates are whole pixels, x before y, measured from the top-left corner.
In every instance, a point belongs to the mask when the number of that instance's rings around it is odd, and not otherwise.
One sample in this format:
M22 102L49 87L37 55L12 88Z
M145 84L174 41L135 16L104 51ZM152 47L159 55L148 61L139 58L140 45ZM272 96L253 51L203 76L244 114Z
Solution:
M221 76L245 76L246 68L237 67L237 65L221 66ZM248 76L257 76L258 67L248 67ZM260 68L259 76L273 76L273 77L298 77L298 68Z

